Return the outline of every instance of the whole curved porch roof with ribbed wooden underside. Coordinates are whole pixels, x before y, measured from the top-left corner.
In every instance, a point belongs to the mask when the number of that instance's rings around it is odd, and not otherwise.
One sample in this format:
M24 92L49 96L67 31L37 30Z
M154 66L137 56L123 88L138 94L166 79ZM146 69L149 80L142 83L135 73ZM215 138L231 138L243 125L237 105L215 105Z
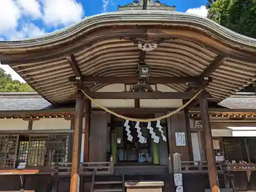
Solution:
M161 41L154 51L134 42ZM76 87L70 55L82 76L134 76L141 56L151 77L211 76L207 91L215 101L233 95L255 80L256 40L211 20L173 11L117 11L87 17L81 23L23 41L0 41L0 60L51 103L65 103ZM68 57L67 57L68 56ZM84 83L97 91L108 83ZM185 83L168 84L178 92Z

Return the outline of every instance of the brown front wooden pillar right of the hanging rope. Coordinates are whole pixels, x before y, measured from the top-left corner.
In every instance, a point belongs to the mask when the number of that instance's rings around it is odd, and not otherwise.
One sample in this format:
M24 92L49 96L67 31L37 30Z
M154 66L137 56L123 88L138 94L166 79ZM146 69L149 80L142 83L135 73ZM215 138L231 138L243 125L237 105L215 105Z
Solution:
M212 192L219 192L220 189L219 189L219 183L218 183L214 144L212 143L208 101L207 101L205 91L203 91L200 94L199 102L200 102L200 111L201 111L201 118L202 118L203 131L204 131L204 137L205 137L205 151L206 151L207 164L208 164L208 175L209 175L210 187Z

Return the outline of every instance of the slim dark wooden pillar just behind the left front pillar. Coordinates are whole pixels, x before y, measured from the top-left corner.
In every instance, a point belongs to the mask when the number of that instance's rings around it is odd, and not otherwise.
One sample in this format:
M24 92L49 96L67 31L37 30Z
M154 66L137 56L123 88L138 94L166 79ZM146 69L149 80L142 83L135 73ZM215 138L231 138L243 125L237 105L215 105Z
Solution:
M90 124L91 124L91 101L86 100L86 124L84 125L84 148L83 162L89 162L89 139L90 139Z

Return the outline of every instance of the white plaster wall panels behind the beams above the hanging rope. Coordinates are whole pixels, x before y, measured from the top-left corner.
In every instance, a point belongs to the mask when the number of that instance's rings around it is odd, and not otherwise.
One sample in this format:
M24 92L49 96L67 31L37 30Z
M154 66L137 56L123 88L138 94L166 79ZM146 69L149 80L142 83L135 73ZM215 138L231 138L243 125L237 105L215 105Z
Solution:
M127 86L127 89L130 87ZM155 89L155 86L152 86ZM97 92L123 92L124 84L110 84ZM157 90L162 92L176 92L163 84L157 85ZM127 90L128 91L128 90ZM95 99L106 108L134 108L134 99ZM140 99L141 108L178 108L182 105L182 99ZM93 108L98 106L92 103Z

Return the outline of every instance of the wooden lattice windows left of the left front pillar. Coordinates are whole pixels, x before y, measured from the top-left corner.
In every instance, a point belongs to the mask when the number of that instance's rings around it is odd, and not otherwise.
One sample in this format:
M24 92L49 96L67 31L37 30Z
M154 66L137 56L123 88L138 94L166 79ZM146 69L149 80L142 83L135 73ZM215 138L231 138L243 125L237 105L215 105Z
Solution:
M0 168L68 162L69 134L0 135Z

